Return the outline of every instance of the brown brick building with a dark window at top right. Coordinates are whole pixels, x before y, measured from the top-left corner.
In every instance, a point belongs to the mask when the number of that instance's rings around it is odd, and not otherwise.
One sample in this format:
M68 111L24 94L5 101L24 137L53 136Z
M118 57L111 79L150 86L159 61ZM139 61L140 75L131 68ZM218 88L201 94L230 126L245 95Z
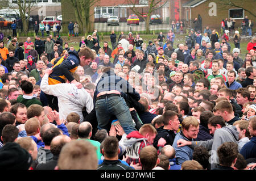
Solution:
M181 19L195 19L201 16L202 28L206 26L210 28L217 29L220 31L221 21L225 18L233 18L236 20L235 28L241 27L242 20L247 15L255 24L255 17L249 12L245 11L247 9L251 12L255 12L256 3L254 0L232 0L237 5L242 6L242 8L220 5L221 0L192 0L184 2L181 5ZM222 0L221 2L228 2L229 0ZM183 2L183 1L181 1Z

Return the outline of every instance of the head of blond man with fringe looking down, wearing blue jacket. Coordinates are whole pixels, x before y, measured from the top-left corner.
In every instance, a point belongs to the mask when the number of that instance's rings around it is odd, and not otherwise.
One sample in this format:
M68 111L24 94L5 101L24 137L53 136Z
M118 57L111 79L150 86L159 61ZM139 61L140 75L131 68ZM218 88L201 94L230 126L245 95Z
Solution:
M199 121L193 116L185 117L181 123L181 130L187 138L197 138L199 132Z

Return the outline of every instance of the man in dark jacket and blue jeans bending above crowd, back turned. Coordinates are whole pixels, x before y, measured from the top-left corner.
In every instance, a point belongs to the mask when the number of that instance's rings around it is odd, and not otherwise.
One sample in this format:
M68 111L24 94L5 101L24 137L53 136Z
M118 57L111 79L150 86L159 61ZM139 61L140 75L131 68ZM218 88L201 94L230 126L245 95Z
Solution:
M130 95L135 101L138 101L141 96L129 82L115 75L111 68L105 68L102 73L93 97L98 129L109 130L111 118L115 116L126 134L136 131L129 107L124 98Z

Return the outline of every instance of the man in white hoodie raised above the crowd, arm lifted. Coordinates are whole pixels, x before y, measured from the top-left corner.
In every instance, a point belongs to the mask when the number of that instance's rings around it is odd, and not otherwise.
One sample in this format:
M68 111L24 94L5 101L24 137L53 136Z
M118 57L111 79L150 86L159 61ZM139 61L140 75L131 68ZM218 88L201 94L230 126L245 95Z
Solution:
M46 94L53 95L58 98L60 119L66 119L69 113L76 112L79 114L82 122L84 120L84 116L82 115L84 107L88 113L93 110L92 97L84 88L78 89L68 80L67 83L48 85L48 77L51 73L52 69L46 69L40 85L41 90Z

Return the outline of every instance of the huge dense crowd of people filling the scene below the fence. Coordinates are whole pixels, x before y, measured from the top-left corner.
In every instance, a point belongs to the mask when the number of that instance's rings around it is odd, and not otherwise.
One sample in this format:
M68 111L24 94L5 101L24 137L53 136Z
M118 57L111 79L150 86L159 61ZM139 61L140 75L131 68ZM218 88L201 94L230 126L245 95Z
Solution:
M236 36L0 41L0 168L253 169L256 37L243 60Z

